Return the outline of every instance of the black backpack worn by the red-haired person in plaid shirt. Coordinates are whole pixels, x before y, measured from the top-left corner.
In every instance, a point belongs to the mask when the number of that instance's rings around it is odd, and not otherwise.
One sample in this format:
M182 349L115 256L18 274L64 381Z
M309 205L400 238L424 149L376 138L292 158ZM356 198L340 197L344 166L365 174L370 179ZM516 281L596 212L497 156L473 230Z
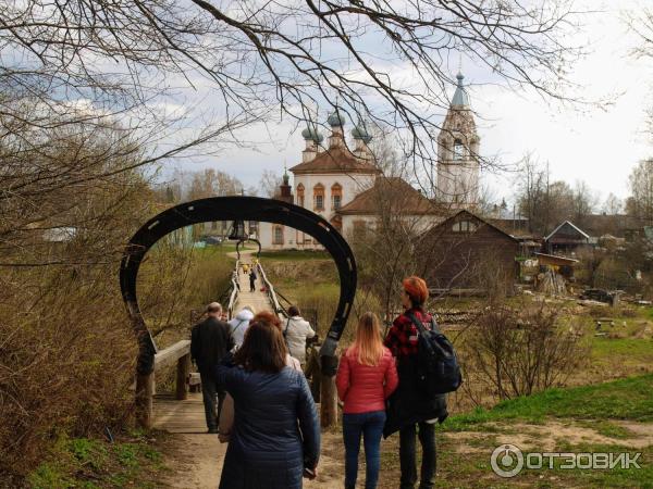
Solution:
M428 396L453 392L463 384L463 375L456 351L452 342L444 336L435 319L431 318L431 330L412 313L408 317L417 326L417 381L422 392Z

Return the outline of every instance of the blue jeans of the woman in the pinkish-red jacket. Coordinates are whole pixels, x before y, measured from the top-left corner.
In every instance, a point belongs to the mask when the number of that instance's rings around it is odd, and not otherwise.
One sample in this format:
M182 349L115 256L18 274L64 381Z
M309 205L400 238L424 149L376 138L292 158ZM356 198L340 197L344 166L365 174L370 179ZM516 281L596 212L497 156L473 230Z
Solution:
M345 441L345 488L355 488L358 477L358 452L360 435L365 443L365 489L375 489L381 466L381 436L385 424L385 411L343 414L343 439Z

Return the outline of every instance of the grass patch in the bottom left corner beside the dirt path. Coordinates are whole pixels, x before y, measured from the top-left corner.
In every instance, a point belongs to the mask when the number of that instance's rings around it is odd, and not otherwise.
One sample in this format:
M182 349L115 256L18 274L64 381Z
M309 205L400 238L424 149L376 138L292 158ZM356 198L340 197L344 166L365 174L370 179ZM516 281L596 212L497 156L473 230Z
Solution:
M152 475L164 469L162 455L145 434L109 443L101 439L60 438L27 476L33 489L155 488Z

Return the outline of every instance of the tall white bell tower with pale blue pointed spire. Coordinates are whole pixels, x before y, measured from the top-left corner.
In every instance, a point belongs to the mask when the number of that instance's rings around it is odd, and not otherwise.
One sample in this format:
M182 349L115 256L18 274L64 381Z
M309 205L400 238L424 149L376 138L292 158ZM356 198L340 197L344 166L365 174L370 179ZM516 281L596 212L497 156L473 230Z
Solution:
M479 136L461 73L438 135L438 200L453 209L479 202Z

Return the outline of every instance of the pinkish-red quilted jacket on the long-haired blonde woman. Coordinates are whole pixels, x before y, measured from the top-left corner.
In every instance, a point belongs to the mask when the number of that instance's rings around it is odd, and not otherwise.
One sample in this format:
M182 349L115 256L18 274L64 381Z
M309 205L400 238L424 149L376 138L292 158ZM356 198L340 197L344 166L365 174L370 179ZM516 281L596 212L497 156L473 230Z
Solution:
M337 397L345 403L343 413L346 414L385 411L385 400L397 384L395 360L385 347L377 366L362 365L345 351L335 377Z

